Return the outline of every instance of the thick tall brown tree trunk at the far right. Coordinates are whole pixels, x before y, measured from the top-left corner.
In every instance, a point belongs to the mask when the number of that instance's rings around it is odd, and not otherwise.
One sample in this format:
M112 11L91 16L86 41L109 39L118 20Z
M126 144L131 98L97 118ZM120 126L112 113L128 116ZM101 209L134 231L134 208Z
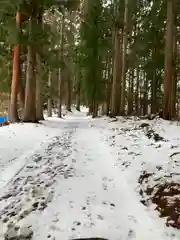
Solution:
M165 76L164 76L164 119L171 119L170 99L173 80L173 0L167 0L167 27L165 43Z

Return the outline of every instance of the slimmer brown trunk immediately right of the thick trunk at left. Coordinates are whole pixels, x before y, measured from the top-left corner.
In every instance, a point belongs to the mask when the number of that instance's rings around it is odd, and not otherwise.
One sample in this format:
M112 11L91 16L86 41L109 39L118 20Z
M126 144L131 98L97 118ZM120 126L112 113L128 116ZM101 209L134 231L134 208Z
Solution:
M36 53L36 118L38 121L44 120L41 99L41 58L38 53Z

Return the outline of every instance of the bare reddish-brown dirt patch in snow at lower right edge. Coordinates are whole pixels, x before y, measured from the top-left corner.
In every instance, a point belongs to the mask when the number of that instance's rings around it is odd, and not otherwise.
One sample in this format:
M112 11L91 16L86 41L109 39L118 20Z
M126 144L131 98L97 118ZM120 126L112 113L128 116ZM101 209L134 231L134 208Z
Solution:
M155 173L143 171L139 177L141 203L147 207L155 204L159 216L166 218L166 225L180 229L180 183L170 182L172 176L169 175L154 179L156 184L150 186L153 176Z

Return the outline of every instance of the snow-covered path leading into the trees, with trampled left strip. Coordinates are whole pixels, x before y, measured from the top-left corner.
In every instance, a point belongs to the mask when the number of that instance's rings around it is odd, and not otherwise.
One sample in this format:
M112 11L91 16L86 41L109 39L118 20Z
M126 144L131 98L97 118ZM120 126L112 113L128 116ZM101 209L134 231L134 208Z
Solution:
M175 239L140 203L116 166L117 156L104 140L107 129L98 120L92 126L88 117L76 114L45 124L56 135L1 186L2 222L32 225L34 240Z

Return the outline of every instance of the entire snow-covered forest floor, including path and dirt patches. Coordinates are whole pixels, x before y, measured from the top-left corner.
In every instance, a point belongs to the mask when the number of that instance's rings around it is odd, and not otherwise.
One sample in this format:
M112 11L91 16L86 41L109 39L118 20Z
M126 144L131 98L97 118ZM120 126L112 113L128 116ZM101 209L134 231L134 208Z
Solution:
M83 111L0 128L0 239L179 239L180 126Z

